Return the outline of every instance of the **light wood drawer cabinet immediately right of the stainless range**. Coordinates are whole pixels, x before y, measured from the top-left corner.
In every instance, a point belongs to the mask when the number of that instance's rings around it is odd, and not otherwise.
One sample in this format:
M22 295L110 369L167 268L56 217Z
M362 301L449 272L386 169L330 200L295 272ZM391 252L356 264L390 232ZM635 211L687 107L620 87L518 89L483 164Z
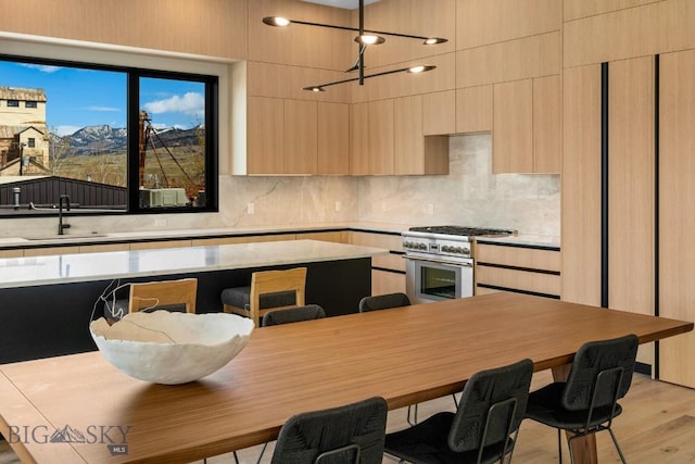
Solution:
M559 248L477 242L475 258L476 294L513 291L559 298Z

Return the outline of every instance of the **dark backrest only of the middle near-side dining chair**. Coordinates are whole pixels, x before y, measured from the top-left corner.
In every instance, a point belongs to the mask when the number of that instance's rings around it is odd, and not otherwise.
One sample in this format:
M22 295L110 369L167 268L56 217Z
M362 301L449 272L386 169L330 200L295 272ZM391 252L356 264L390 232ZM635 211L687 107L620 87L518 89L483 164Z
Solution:
M473 374L452 422L451 450L482 452L490 444L505 443L526 415L532 375L533 363L528 359Z

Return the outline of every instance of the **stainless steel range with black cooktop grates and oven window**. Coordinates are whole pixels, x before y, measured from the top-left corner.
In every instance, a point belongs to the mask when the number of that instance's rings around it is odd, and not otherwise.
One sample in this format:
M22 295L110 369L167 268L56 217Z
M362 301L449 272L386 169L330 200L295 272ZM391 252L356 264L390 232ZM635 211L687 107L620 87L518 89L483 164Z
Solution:
M406 293L413 303L473 294L472 237L503 237L515 230L462 226L412 227L404 231Z

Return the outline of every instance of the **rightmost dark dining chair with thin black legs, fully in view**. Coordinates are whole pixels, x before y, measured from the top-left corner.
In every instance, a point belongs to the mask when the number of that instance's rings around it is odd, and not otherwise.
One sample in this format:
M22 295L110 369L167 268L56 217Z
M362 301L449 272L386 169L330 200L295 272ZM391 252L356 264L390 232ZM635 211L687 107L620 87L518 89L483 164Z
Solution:
M618 400L630 389L637 355L635 335L584 343L577 351L567 381L555 381L529 396L527 417L557 428L559 462L563 462L561 430L572 442L579 437L608 430L620 460L626 459L611 429L614 417L622 413Z

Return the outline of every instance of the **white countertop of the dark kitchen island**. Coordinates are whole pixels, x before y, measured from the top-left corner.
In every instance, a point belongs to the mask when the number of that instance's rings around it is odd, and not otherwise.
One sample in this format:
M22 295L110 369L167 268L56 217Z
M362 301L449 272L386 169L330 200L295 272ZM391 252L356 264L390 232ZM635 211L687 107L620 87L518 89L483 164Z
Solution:
M354 244L288 240L5 258L0 259L0 288L352 260L387 252Z

